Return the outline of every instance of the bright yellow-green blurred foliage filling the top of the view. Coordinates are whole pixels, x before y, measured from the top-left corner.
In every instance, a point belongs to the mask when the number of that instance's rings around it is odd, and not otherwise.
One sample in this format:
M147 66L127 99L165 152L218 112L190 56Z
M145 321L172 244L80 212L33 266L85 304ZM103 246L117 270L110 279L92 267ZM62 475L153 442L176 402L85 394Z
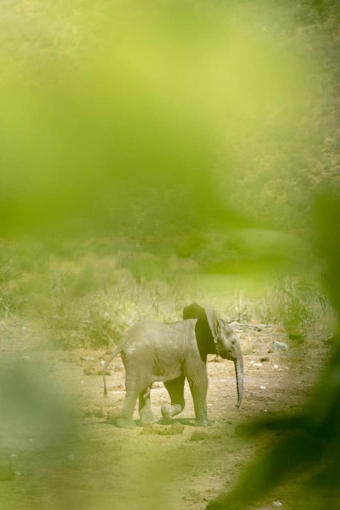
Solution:
M5 233L183 256L212 224L306 226L313 190L338 186L336 5L304 21L293 2L2 12Z

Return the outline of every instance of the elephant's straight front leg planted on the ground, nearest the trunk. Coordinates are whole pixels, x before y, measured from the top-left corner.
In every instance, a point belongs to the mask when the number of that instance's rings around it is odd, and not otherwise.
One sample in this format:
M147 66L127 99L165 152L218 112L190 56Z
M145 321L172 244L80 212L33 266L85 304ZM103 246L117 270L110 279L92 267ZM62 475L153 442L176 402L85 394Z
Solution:
M190 376L188 376L188 382L194 401L195 426L206 427L211 425L212 422L207 417L206 393L208 389L208 376L205 365L198 373L191 372Z

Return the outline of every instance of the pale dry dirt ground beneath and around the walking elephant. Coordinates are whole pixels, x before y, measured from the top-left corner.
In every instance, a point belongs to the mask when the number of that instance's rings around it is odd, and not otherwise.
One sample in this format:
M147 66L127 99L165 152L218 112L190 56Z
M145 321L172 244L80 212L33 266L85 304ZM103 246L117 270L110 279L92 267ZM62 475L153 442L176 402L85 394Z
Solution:
M24 332L22 332L24 333ZM196 428L186 383L186 408L175 425L115 426L124 397L124 369L118 356L111 364L108 398L98 372L103 350L44 350L15 332L0 351L0 452L16 472L0 482L2 510L202 509L220 491L229 491L255 454L282 434L268 431L244 439L238 425L266 414L301 409L328 358L322 342L295 345L280 328L239 330L244 353L244 397L240 409L231 362L207 363L208 413L214 424ZM289 350L268 352L273 340ZM82 359L83 358L83 359ZM258 363L254 366L250 362ZM161 418L168 402L161 382L151 390L153 411ZM135 420L139 425L138 409ZM251 508L295 507L305 473L283 480Z

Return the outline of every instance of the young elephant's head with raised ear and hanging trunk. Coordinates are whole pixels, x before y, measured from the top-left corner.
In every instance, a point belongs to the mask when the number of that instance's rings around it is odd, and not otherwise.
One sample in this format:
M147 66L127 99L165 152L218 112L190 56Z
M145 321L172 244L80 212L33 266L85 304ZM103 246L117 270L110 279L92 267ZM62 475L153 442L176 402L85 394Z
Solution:
M204 331L204 336L210 336L207 341L214 342L213 352L216 352L221 358L233 361L238 392L236 407L240 407L243 395L243 358L236 334L228 322L220 319L215 310L207 303L204 303L204 308L197 303L191 303L184 309L183 318L197 318L202 323L201 330Z

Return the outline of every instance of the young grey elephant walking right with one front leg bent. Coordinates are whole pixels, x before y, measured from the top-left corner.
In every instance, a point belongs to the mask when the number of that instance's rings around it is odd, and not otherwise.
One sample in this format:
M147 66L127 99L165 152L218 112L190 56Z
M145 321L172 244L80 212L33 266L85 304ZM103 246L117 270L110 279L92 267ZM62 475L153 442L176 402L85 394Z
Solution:
M133 414L139 399L142 425L158 421L151 410L153 382L163 381L171 403L162 405L166 423L184 410L184 382L188 379L194 401L196 426L210 425L207 418L206 356L219 354L234 361L237 374L238 403L243 389L243 362L240 344L229 324L205 305L191 303L183 311L184 320L166 324L152 320L137 322L125 333L103 367L104 395L107 395L106 370L120 352L125 367L125 400L117 426L135 427Z

